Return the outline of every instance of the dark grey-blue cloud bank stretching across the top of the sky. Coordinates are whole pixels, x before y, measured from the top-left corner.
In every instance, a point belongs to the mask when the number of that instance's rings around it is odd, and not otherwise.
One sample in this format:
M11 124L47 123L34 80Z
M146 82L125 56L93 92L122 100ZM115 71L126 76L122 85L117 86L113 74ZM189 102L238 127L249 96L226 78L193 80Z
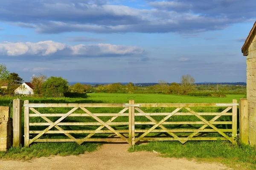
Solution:
M0 21L40 34L200 33L255 20L254 1L145 0L141 9L107 0L1 0Z

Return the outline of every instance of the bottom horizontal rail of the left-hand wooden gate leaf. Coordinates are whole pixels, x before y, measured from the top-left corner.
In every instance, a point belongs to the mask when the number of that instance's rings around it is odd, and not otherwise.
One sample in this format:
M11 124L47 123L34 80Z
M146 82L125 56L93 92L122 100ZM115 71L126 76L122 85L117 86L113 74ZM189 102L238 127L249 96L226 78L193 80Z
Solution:
M37 139L35 142L124 142L121 138Z

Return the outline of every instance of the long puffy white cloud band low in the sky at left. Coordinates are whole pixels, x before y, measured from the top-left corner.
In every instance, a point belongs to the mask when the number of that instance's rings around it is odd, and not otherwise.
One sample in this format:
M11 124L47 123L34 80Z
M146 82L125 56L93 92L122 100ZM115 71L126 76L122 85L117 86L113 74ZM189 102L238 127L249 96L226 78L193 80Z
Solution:
M54 41L41 42L3 42L0 43L0 55L7 56L123 56L143 54L145 50L137 46L93 44L67 45Z

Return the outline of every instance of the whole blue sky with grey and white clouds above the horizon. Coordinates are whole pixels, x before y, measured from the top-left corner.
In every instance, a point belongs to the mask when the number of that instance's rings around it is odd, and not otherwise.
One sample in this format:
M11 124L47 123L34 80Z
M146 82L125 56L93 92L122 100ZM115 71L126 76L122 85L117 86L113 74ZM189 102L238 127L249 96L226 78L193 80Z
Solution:
M81 82L246 82L254 0L1 0L0 63Z

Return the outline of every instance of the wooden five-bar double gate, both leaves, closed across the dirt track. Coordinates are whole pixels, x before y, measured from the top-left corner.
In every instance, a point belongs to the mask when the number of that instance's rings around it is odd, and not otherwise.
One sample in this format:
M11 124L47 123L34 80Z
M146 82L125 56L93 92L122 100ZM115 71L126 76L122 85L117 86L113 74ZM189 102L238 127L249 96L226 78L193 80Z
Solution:
M138 141L180 141L185 143L194 140L229 140L235 143L237 130L237 100L232 103L143 103L134 104L134 100L130 100L128 104L105 104L105 103L85 103L85 104L35 104L24 101L24 133L25 146L29 146L33 142L76 142L82 144L83 142L127 142L134 145ZM122 108L119 113L91 113L87 108ZM142 108L174 108L171 113L145 113ZM221 113L217 112L196 112L192 110L193 107L225 107ZM35 108L72 108L67 113L40 113ZM81 109L84 113L74 113L77 109ZM187 112L180 112L181 109L186 109ZM232 110L232 113L227 111ZM33 113L29 113L29 111ZM128 111L128 113L125 113ZM136 113L135 113L136 112ZM97 122L61 122L67 117L91 117ZM104 122L99 117L112 116L111 119ZM128 116L128 122L113 122L119 116ZM135 122L135 116L145 116L149 121ZM165 116L160 121L157 121L152 116ZM169 122L167 121L172 116L196 116L200 121L183 121L183 122ZM210 120L204 119L202 116L214 116ZM217 121L221 116L232 116L232 121ZM29 122L30 117L41 117L46 122ZM52 122L47 117L58 117L55 122ZM80 126L80 125L97 125L96 130L64 130L60 126ZM128 125L127 130L115 130L113 125ZM151 125L149 129L140 129L137 125ZM165 125L202 125L200 128L194 129L174 129ZM218 129L215 125L232 125L232 129ZM44 130L29 130L29 126L48 126ZM55 127L57 130L52 130ZM207 128L208 127L208 128ZM210 127L210 128L209 128ZM107 128L107 130L103 130ZM160 128L160 129L157 129ZM64 134L70 139L40 139L44 134ZM72 133L89 133L83 139L76 139ZM113 133L119 138L91 138L98 133ZM151 137L151 133L168 133L171 137ZM181 137L177 133L191 133L186 137ZM218 133L221 137L198 137L198 133ZM231 133L228 136L227 133ZM29 134L37 134L32 139ZM126 136L125 134L128 134Z

